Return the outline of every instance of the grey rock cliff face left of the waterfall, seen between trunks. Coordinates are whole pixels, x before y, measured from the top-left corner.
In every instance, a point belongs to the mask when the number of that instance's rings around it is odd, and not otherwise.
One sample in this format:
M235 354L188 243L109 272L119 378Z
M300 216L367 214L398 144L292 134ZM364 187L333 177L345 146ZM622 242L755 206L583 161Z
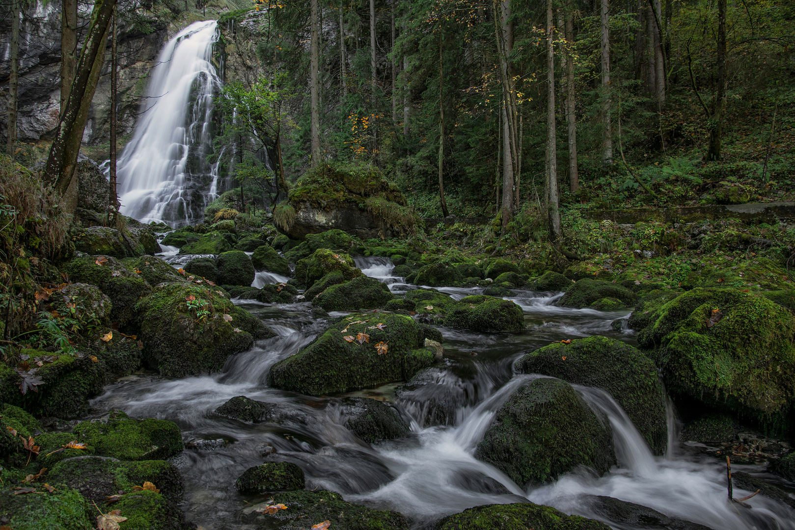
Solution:
M91 15L91 4L80 4L80 48ZM2 99L8 96L10 72L10 17L4 7L0 22L0 83ZM52 138L58 125L60 106L60 0L37 0L21 14L20 79L17 114L17 138L33 142ZM138 106L153 67L157 52L167 38L167 24L154 17L137 14L133 21L124 21L122 14L118 31L118 136L130 133L135 126ZM111 44L107 44L107 60L88 114L83 143L98 145L107 142L110 123ZM5 141L6 106L0 114L0 136Z

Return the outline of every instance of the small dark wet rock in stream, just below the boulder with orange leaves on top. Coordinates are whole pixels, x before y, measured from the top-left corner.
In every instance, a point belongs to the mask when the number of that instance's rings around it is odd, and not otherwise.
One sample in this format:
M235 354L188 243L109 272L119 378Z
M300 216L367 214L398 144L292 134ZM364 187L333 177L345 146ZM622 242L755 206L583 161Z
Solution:
M366 397L348 397L343 400L340 412L346 418L344 425L365 442L401 438L409 434L409 424L394 407Z

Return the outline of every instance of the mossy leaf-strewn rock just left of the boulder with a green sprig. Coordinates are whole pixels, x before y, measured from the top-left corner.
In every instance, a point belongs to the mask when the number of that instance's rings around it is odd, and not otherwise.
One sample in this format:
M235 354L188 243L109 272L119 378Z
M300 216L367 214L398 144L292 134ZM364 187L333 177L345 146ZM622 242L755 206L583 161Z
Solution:
M114 257L76 257L61 266L69 280L99 287L111 299L111 321L120 326L134 323L135 305L152 292L152 286Z

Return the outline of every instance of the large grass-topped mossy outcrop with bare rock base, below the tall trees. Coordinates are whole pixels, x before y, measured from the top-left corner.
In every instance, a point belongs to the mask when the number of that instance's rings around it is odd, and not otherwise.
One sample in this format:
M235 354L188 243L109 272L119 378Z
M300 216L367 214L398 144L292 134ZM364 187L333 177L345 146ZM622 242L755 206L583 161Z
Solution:
M405 197L372 165L320 164L304 173L286 203L273 211L277 227L294 239L329 229L359 238L413 234L419 219Z

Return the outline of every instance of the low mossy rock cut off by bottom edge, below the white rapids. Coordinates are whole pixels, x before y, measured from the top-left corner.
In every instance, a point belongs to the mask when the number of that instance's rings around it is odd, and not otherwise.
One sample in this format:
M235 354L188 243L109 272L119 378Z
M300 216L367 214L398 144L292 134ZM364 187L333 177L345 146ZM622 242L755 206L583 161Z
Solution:
M475 506L444 517L434 530L610 530L598 520L532 503Z

